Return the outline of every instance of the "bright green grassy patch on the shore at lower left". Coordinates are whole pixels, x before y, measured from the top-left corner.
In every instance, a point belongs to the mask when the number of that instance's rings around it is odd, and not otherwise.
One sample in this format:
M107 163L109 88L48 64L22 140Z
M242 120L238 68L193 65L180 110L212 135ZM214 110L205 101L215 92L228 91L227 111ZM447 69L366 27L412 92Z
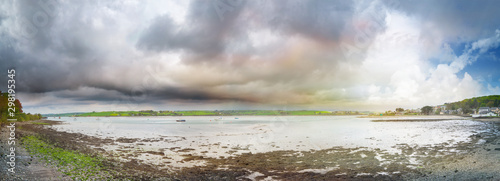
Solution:
M31 154L38 155L46 162L57 165L62 173L74 180L110 179L102 174L106 173L102 157L92 157L55 147L37 136L25 136L22 142Z

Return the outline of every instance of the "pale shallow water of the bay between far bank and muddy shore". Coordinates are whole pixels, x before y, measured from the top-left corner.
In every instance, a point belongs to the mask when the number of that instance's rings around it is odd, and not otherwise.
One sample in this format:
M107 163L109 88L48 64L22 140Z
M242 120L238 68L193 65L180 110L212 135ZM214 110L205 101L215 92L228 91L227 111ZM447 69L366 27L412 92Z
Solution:
M455 144L488 131L473 120L424 122L371 122L356 116L234 116L215 121L215 116L185 117L62 117L60 131L101 138L183 137L175 142L152 143L152 147L194 148L220 156L221 146L238 147L252 153L275 150L319 150L335 146L379 148L400 152L395 146ZM52 118L49 118L52 119ZM177 123L176 119L185 119ZM212 145L204 147L205 145Z

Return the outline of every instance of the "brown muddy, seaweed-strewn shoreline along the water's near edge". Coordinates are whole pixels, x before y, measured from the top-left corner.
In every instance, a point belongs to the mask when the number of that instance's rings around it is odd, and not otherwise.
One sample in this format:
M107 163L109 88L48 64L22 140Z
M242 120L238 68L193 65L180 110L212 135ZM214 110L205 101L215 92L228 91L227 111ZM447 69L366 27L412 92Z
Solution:
M46 122L57 124L48 120ZM60 123L60 122L59 122ZM485 121L485 124L496 125L498 121ZM492 133L478 133L471 136L470 142L462 142L454 146L446 144L415 147L400 144L400 154L387 153L380 149L363 147L332 147L322 150L292 151L281 150L265 153L232 154L224 158L212 158L203 155L186 153L189 148L176 148L173 153L180 157L178 164L200 162L197 166L168 167L166 163L147 163L138 156L148 154L156 157L172 157L162 151L140 150L141 144L148 141L138 139L102 139L79 133L55 131L48 126L34 125L30 122L19 124L22 129L19 135L37 133L52 140L52 144L89 155L100 154L110 158L115 171L114 178L142 179L206 179L211 180L262 180L262 179L340 179L340 180L407 180L407 179L488 179L500 178L500 168L495 168L500 159L500 138ZM2 128L3 129L3 128ZM497 130L498 131L498 130ZM481 141L483 140L483 141ZM120 145L129 143L127 149L109 152L104 145ZM21 147L21 146L18 146ZM498 148L498 150L497 150ZM238 151L244 148L236 148ZM120 151L123 150L123 151ZM135 150L135 151L134 151ZM443 151L444 150L444 151ZM122 156L120 156L122 155ZM128 159L122 159L128 157ZM471 162L475 162L471 165ZM161 164L164 167L160 166ZM177 163L172 163L177 164ZM488 166L490 165L490 166ZM493 166L491 166L493 165ZM19 168L31 169L30 167ZM27 171L27 172L28 172ZM57 173L54 173L57 175ZM64 178L64 175L60 175ZM446 177L443 177L446 176ZM491 179L490 178L490 179Z

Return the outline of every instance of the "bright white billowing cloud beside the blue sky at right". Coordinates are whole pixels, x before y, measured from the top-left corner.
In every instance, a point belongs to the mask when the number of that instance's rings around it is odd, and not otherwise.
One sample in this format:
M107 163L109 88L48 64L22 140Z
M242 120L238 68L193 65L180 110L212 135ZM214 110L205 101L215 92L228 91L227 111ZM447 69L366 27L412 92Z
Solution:
M444 53L440 56L444 54L447 60L433 67L428 58L435 55L423 53L427 41L421 39L420 22L397 12L387 17L391 20L386 31L375 38L361 67L361 77L372 82L369 96L361 104L416 108L480 95L482 86L477 80L468 73L462 79L456 75L476 61L477 53L466 51L457 57L446 42L441 42ZM473 43L471 50L482 53L496 46L496 36Z

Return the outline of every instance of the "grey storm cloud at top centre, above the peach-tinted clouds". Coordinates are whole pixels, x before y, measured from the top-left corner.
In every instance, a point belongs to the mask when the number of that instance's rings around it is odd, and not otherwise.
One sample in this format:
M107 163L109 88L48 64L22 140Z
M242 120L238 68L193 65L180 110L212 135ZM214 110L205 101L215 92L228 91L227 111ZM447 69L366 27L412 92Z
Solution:
M335 42L354 14L352 1L231 2L192 1L183 24L168 15L159 16L144 31L137 46L154 51L188 50L200 55L199 60L207 60L224 53L232 45L229 39L247 33L251 23L286 36L299 34Z

